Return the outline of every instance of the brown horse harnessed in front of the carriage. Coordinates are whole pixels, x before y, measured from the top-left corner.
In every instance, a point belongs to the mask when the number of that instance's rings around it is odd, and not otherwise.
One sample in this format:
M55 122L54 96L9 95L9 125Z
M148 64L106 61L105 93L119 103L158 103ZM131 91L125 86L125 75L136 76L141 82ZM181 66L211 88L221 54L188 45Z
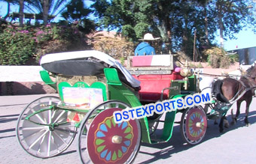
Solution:
M240 114L240 106L242 101L245 100L246 102L246 109L245 109L245 124L248 126L248 111L249 106L251 104L252 97L254 96L254 88L256 87L256 67L252 66L247 70L245 76L241 76L239 80L226 78L220 82L221 92L218 93L216 96L217 100L221 101L222 103L226 103L227 106L231 106L233 103L236 102L236 117L233 117L233 124L236 123L236 120ZM216 82L215 82L216 83ZM215 85L215 84L214 84ZM216 86L216 85L215 85ZM233 112L232 112L233 113ZM227 119L224 116L221 117L221 121L219 124L220 132L223 132L223 122Z

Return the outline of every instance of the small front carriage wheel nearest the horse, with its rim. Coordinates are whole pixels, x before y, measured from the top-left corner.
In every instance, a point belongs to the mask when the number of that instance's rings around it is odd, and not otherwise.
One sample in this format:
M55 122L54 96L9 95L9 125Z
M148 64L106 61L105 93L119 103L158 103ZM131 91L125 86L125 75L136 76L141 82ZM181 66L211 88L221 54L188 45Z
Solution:
M190 145L200 143L206 134L206 112L201 106L186 109L181 117L181 136Z

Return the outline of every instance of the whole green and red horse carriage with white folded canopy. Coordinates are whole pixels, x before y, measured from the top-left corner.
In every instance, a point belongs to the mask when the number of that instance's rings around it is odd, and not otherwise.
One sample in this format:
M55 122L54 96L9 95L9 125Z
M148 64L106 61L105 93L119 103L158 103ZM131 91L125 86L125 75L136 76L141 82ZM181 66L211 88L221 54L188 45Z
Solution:
M196 145L206 134L207 115L202 106L166 112L163 121L157 114L114 121L114 112L199 92L197 76L189 69L175 72L172 55L129 57L126 69L102 52L63 52L44 55L41 66L41 78L59 97L34 100L20 114L17 139L32 156L61 154L78 135L82 163L131 163L141 142L171 139L178 112L182 113L178 124L185 142ZM155 138L159 122L163 130Z

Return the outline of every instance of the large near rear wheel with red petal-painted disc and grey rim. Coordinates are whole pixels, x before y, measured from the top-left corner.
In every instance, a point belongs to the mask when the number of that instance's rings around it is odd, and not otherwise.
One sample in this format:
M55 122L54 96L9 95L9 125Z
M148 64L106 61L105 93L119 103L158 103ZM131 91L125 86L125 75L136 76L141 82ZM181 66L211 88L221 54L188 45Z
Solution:
M141 142L139 120L116 124L113 117L115 111L126 108L129 106L125 103L110 100L87 113L78 137L78 152L82 163L133 162Z

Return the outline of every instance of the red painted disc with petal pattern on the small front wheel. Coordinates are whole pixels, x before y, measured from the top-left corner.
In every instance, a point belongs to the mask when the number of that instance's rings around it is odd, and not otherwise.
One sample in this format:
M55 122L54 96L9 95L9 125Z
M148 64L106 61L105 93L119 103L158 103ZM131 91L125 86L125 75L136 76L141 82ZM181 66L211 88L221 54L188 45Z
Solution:
M206 133L206 114L199 108L190 109L186 118L186 133L190 141L197 141Z

